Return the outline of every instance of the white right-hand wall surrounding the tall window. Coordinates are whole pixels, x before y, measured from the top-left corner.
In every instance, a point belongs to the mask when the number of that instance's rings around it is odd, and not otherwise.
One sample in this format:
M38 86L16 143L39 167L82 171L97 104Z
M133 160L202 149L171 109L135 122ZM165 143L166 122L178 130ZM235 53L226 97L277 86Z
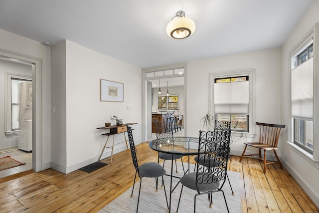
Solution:
M295 26L294 30L290 34L289 38L282 47L282 120L287 123L290 122L289 111L287 110L289 105L289 53L299 43L299 41L306 35L306 33L314 26L316 22L319 22L319 1L315 0L310 9L305 13L304 17ZM316 35L319 36L319 35ZM318 43L314 44L315 52L318 50ZM316 82L318 83L318 82ZM318 85L317 85L318 86ZM318 94L315 98L318 98ZM315 109L316 110L316 109ZM318 112L318 109L317 109ZM318 131L318 129L315 129ZM288 141L288 133L282 134L282 141ZM314 138L318 140L318 138ZM314 147L316 149L316 147ZM318 147L317 147L318 149ZM292 176L303 187L307 194L313 199L317 206L319 206L319 168L316 166L309 157L290 146L288 143L281 143L282 152L281 158L285 168L289 170ZM318 162L317 162L318 165Z

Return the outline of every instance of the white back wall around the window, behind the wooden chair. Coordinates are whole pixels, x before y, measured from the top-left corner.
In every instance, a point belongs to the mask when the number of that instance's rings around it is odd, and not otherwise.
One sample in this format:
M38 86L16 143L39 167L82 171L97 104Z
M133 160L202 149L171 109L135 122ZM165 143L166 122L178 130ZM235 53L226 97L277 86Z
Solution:
M249 68L256 70L255 121L250 125L256 126L256 122L285 124L281 120L281 49L274 48L187 63L187 136L198 137L199 130L203 130L200 118L209 110L209 73ZM234 138L236 142L231 145L231 154L240 156L244 149L243 142L253 140L251 137L248 135L248 138L239 141ZM247 148L247 151L254 150ZM272 159L269 154L267 158Z

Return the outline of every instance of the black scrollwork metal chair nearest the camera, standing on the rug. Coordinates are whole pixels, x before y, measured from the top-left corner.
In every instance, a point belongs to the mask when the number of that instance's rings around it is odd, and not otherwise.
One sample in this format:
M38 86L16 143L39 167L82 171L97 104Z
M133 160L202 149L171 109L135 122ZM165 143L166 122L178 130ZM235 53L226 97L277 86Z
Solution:
M199 131L199 146L198 146L198 162L196 172L188 173L180 179L182 188L180 191L177 211L180 204L183 187L195 190L197 194L194 196L194 212L196 211L196 197L198 195L208 194L209 207L212 205L212 193L222 192L226 204L225 194L222 190L227 176L228 151L230 135L226 131ZM216 163L218 162L218 163Z

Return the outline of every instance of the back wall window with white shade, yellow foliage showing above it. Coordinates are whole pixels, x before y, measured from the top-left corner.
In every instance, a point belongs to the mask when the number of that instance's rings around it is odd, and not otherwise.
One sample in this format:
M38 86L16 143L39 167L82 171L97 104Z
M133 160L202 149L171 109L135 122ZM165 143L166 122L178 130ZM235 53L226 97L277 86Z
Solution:
M233 131L249 131L249 76L214 78L215 119Z

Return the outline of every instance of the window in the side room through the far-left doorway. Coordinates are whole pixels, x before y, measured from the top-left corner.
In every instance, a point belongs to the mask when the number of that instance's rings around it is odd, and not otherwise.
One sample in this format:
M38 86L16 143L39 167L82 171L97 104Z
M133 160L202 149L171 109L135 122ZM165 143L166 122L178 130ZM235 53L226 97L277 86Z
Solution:
M18 100L18 85L22 82L32 82L31 77L7 74L7 98L5 133L19 130L19 118L21 117L20 103ZM32 97L32 88L28 89L29 97ZM31 100L32 101L32 100Z

